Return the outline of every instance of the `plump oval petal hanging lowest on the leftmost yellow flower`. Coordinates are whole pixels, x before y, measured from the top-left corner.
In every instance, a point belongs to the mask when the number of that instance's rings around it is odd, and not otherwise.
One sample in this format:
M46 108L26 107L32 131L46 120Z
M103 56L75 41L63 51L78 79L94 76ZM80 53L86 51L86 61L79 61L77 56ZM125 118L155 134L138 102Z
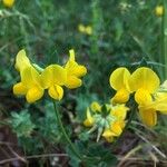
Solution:
M43 89L39 87L32 87L28 90L26 99L29 104L39 100L43 96Z

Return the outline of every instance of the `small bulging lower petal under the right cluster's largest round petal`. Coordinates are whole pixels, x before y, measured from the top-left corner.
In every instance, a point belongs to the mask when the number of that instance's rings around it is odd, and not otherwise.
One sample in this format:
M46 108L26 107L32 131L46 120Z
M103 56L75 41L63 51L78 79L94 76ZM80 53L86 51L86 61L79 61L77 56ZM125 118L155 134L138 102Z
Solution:
M146 89L138 89L135 94L135 100L137 104L144 105L150 102L153 99Z

